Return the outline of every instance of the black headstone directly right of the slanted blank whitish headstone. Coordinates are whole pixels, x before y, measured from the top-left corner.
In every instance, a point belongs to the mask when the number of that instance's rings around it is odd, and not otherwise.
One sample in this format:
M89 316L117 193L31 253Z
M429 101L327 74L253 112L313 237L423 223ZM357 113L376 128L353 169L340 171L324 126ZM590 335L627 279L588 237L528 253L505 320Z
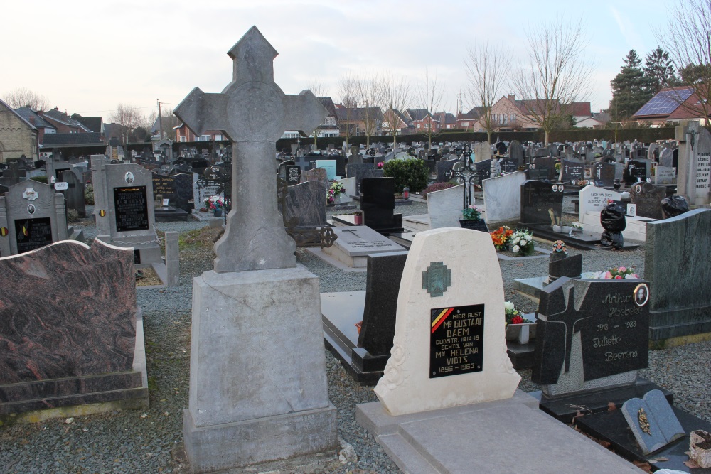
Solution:
M563 190L562 184L525 181L521 185L521 222L530 225L550 226L552 217L556 221L560 220L563 209Z

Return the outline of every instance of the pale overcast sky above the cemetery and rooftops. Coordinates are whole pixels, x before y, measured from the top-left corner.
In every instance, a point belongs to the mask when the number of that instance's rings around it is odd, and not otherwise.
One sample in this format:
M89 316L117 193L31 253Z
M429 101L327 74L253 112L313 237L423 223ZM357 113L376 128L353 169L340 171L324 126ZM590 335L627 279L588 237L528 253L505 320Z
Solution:
M466 88L466 48L488 40L525 60L525 32L556 16L582 18L593 111L611 99L609 81L631 49L644 58L666 28L662 0L67 0L1 7L0 97L16 87L52 106L107 120L119 103L149 113L178 104L193 87L220 92L232 79L232 45L256 25L279 52L274 79L287 94L324 82L338 102L348 72L388 70L446 85L456 112ZM412 104L413 106L417 104ZM464 102L464 109L473 104Z

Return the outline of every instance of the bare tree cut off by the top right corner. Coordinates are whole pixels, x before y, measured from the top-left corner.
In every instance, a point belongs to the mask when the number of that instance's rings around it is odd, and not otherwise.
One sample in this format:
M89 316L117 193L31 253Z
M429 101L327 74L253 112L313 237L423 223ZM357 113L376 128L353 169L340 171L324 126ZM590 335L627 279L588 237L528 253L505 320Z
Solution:
M697 97L695 103L687 104L688 96L678 91L676 100L688 112L703 117L702 124L711 130L711 0L678 0L670 7L670 18L666 31L655 36L669 52L682 85Z

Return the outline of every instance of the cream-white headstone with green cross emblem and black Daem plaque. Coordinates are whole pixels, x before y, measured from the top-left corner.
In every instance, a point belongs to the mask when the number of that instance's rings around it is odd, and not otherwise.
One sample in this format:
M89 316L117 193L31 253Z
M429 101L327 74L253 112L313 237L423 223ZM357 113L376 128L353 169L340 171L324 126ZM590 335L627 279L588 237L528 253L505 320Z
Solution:
M447 228L415 235L392 355L375 387L383 409L400 415L512 397L520 376L506 355L503 301L488 234Z

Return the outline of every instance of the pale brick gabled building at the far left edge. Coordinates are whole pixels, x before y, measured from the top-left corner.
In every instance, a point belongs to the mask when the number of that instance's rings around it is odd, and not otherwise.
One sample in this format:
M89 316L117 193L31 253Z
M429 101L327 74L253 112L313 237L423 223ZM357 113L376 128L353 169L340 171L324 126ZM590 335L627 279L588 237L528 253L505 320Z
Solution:
M0 163L24 155L28 160L39 158L38 130L0 99Z

